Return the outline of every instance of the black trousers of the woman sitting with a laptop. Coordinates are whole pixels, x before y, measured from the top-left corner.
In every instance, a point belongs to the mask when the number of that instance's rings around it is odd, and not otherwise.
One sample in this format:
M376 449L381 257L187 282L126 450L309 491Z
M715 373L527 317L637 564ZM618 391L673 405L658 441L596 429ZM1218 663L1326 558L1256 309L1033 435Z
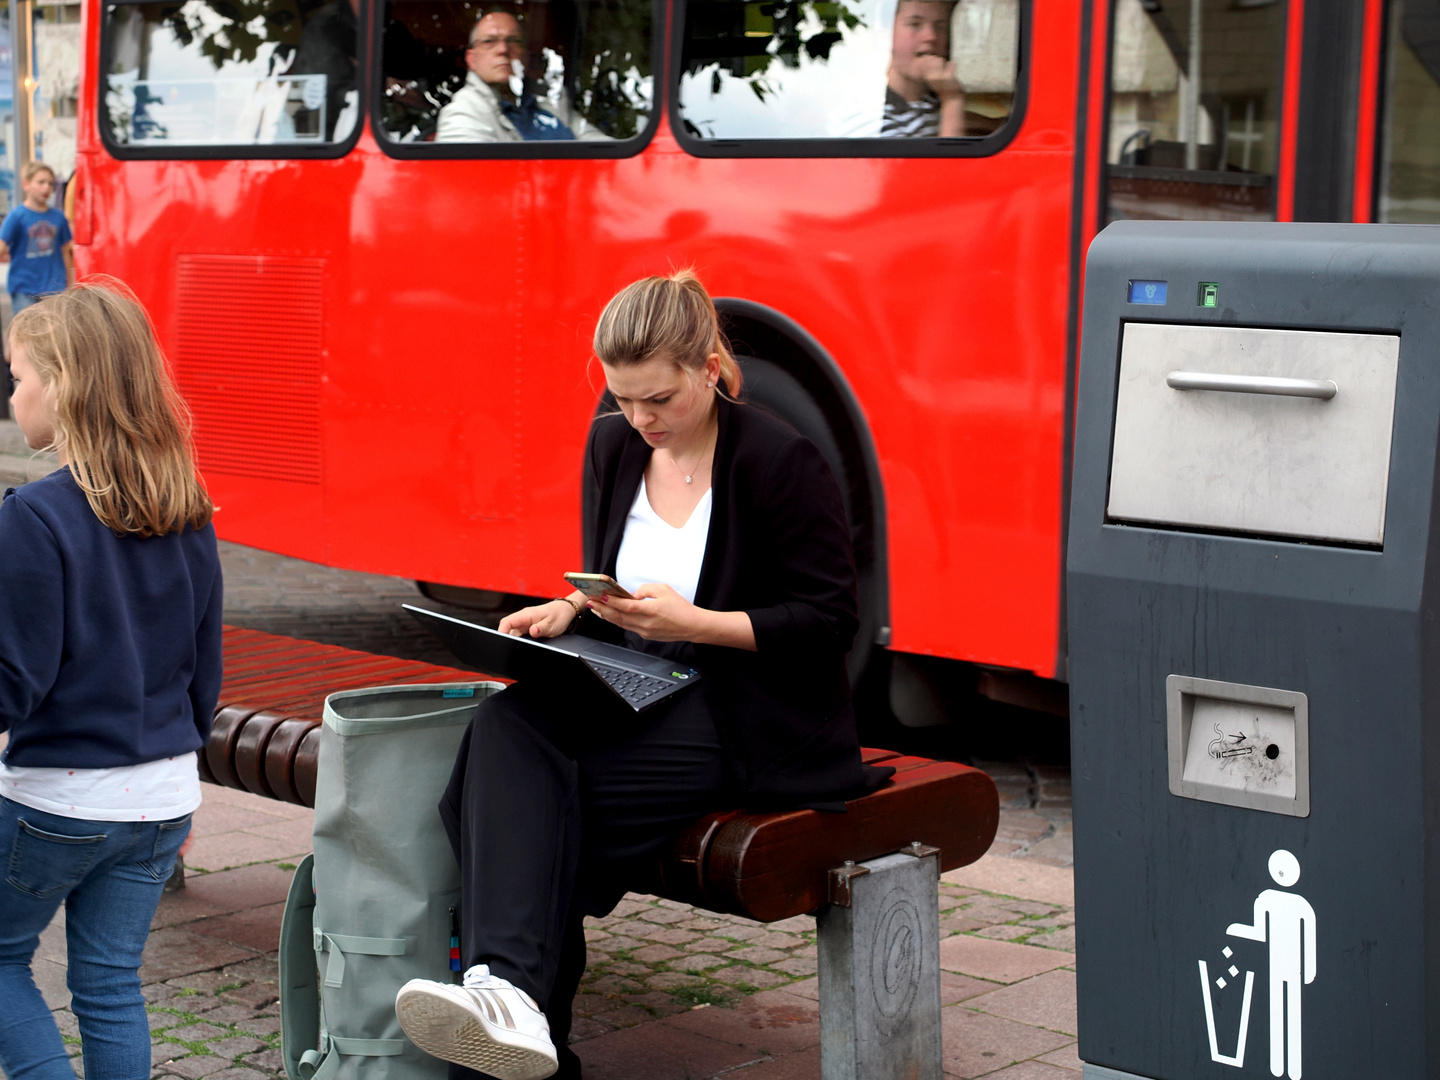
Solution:
M461 958L533 996L560 1054L585 973L586 914L608 914L685 825L733 801L704 696L654 719L615 706L585 716L543 687L481 703L465 732L441 818L461 868ZM451 1079L478 1077L451 1066Z

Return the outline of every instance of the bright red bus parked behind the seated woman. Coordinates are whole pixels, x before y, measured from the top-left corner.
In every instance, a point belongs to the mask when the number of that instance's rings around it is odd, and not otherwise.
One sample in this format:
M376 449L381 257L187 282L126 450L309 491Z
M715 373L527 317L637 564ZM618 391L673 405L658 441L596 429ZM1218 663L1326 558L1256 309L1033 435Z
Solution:
M79 265L154 312L223 537L556 595L595 318L694 266L753 399L842 480L854 667L888 657L914 724L937 665L1063 701L1097 229L1440 222L1437 0L86 0L84 22Z

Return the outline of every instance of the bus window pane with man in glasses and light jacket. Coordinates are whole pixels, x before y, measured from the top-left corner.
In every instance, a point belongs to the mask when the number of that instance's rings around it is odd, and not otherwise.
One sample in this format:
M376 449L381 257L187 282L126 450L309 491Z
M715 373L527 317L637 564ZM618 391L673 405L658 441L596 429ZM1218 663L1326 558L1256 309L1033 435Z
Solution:
M652 111L651 0L390 0L393 143L613 143Z

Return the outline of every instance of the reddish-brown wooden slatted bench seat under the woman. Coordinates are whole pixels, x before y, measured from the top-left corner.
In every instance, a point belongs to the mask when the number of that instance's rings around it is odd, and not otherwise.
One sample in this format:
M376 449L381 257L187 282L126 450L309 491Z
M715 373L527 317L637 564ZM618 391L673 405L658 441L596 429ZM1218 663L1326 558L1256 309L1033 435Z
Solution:
M225 681L202 779L312 806L325 697L360 685L475 683L474 671L379 657L337 645L225 628ZM507 681L507 680L495 680ZM827 876L912 841L940 850L942 870L973 863L995 838L999 798L989 776L953 762L864 749L896 775L880 791L825 811L724 811L696 821L652 871L672 900L760 922L827 903Z

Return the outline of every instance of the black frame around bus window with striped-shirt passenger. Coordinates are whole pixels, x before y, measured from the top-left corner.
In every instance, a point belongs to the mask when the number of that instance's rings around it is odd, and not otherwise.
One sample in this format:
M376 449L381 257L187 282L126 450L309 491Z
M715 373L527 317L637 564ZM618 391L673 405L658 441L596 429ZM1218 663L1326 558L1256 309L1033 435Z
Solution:
M1025 122L1030 101L1030 20L1032 0L1020 0L1020 40L1015 43L1015 98L1009 117L988 135L960 138L698 138L685 130L680 111L681 58L685 49L685 0L675 0L670 58L670 128L693 157L994 157L1008 147Z

